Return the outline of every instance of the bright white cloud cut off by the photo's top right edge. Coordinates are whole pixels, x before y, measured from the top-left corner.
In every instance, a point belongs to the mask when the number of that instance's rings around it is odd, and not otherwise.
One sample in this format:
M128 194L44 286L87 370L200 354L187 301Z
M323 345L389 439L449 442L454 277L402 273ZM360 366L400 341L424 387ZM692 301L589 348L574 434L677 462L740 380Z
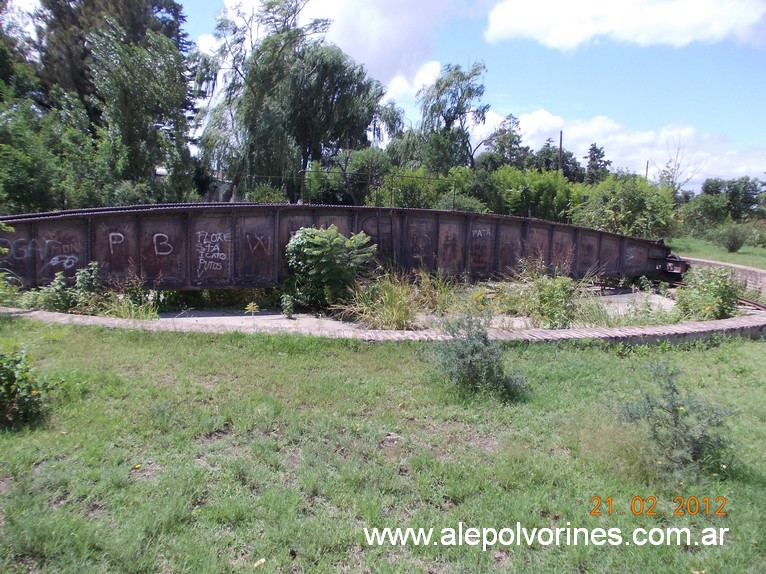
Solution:
M764 15L763 0L502 0L485 38L531 39L559 50L598 38L639 46L746 41Z

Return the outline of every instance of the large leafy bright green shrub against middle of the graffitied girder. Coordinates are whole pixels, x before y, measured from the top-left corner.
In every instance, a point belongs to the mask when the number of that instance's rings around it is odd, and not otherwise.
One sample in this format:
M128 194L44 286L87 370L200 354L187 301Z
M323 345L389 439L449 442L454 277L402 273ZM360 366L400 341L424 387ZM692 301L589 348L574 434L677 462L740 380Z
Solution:
M369 242L364 232L346 238L335 225L299 229L287 244L297 301L305 307L326 309L344 300L375 255L377 246Z

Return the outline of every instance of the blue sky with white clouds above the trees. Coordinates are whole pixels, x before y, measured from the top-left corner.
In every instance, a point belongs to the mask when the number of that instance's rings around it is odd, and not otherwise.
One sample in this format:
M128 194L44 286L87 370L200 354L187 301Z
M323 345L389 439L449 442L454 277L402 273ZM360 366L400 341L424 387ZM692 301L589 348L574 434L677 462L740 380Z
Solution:
M33 0L18 0L28 3ZM250 9L258 0L245 0ZM238 0L180 0L186 31L214 49L216 16ZM442 66L483 62L486 123L508 115L534 149L563 132L613 168L656 176L679 158L707 177L766 179L766 0L308 0L337 44L420 119L416 93Z

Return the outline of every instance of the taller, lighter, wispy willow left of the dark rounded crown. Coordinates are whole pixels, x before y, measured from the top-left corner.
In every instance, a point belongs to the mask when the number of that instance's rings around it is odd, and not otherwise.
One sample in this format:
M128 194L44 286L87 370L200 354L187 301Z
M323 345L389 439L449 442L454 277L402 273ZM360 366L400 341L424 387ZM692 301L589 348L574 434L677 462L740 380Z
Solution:
M287 127L284 105L287 80L309 39L329 26L320 19L298 25L306 2L267 0L250 13L240 5L234 18L219 19L221 48L200 66L206 73L198 83L208 92L216 89L219 72L224 82L221 101L207 110L203 157L235 190L263 183L259 175L273 175L266 183L282 186L299 169L300 149ZM291 195L297 193L295 188Z

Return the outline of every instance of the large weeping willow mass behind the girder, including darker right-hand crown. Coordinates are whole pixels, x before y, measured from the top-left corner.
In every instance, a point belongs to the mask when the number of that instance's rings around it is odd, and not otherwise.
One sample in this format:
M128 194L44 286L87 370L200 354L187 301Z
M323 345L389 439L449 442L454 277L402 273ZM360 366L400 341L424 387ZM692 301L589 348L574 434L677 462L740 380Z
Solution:
M297 199L312 162L368 147L368 132L396 125L380 83L324 42L329 21L299 25L305 4L237 9L218 22L220 49L203 66L206 90L223 84L207 111L203 157L240 195L267 183Z

